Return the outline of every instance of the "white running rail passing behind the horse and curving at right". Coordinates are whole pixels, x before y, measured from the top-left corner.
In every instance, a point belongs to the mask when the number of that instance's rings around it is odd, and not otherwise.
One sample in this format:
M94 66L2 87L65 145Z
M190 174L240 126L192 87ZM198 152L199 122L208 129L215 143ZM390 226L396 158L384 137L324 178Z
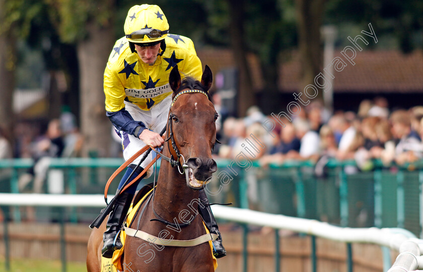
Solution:
M111 199L113 196L110 196ZM0 206L105 207L103 195L0 194ZM399 251L388 272L423 269L423 240L397 228L342 228L317 220L212 206L215 217L228 221L306 233L345 243L372 243Z

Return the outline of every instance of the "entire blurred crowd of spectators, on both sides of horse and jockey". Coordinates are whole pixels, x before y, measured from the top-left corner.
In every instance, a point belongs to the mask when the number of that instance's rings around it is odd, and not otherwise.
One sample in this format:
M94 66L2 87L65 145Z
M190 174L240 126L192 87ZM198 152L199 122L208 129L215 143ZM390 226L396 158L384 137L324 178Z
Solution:
M292 120L281 118L281 124L255 106L244 118L231 117L219 94L213 99L220 115L217 133L222 142L216 145L216 157L236 159L242 152L244 159L257 160L263 167L289 160L312 160L316 165L324 165L334 158L355 160L362 170L372 169L373 159L380 159L388 166L423 158L423 106L390 110L387 100L377 97L362 101L357 112L330 113L316 101L301 108ZM264 125L266 120L274 123L271 130ZM247 149L247 138L261 145ZM121 156L120 139L115 140L114 154ZM49 120L44 129L31 123L18 123L9 134L0 128L0 159L32 158L35 162L19 178L21 192L29 184L33 184L31 191L41 192L49 160L81 156L82 145L83 137L69 111Z

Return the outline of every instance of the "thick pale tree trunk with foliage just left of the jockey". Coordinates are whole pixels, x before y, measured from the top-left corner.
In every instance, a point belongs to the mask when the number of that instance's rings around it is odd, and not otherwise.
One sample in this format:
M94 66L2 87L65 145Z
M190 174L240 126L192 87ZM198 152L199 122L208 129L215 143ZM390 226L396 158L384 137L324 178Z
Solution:
M61 40L77 44L85 155L106 156L111 143L111 125L104 108L103 72L115 40L115 2L49 1L53 11L57 12L50 16Z

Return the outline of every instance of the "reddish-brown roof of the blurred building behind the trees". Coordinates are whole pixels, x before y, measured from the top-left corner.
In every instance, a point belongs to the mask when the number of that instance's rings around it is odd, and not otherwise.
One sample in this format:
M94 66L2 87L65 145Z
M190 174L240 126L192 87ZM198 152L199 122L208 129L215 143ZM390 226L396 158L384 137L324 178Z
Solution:
M334 57L341 57L347 66L340 72L334 71L335 93L423 93L423 51L415 50L403 54L395 50L358 51L354 66L335 50ZM215 73L234 67L230 49L204 49L197 52L202 64L207 64ZM252 81L255 89L263 88L263 77L258 57L248 56ZM301 69L297 51L292 52L279 71L279 90L297 92L301 86Z

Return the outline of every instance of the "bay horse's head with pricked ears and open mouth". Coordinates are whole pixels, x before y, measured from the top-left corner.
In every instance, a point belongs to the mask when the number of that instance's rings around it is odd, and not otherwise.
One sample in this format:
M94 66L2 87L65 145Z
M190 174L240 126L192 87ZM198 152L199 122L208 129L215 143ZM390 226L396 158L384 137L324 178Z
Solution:
M208 89L212 86L213 75L206 65L201 81L186 77L181 82L178 66L169 75L173 90L173 102L167 127L167 135L173 134L174 144L169 150L174 157L182 155L181 163L189 168L187 186L194 190L204 188L217 164L212 159L216 143L216 119L218 114L209 100Z

